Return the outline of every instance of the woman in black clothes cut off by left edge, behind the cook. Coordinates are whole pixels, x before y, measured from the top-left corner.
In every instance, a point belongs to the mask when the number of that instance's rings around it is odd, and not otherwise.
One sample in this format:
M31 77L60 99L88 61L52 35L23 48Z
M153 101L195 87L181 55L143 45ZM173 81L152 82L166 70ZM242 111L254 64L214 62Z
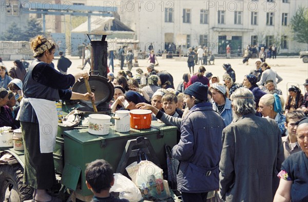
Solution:
M7 106L9 102L9 93L5 88L0 87L0 127L8 126L17 129L12 111Z

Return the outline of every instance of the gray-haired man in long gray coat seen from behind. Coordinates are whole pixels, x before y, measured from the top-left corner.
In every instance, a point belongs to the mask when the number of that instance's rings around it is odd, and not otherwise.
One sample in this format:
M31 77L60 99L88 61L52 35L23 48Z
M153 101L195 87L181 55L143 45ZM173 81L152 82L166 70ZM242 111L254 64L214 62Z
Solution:
M234 119L222 133L219 193L226 201L273 201L284 160L280 130L274 119L255 115L250 90L230 98Z

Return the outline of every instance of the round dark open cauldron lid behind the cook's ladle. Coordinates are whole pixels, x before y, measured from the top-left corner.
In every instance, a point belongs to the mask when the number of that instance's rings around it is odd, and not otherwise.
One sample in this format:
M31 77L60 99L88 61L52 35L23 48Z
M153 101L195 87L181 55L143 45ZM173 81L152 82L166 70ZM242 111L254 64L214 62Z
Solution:
M112 99L114 87L107 78L99 75L90 75L88 81L91 92L95 94L95 105L98 106L102 103L108 103ZM77 80L73 85L72 91L82 94L88 92L83 78ZM80 102L92 108L91 101L80 100Z

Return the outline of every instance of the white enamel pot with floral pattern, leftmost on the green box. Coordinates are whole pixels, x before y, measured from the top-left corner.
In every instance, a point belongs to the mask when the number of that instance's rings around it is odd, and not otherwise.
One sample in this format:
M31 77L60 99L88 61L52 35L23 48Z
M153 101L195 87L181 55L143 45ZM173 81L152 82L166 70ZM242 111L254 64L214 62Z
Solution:
M111 116L105 114L89 115L89 133L93 135L108 135Z

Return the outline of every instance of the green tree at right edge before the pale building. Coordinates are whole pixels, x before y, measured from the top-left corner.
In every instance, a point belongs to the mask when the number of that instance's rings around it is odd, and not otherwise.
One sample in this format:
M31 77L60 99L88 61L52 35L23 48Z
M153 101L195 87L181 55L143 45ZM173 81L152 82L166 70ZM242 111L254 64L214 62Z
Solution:
M294 40L299 43L308 43L308 9L299 7L291 19Z

